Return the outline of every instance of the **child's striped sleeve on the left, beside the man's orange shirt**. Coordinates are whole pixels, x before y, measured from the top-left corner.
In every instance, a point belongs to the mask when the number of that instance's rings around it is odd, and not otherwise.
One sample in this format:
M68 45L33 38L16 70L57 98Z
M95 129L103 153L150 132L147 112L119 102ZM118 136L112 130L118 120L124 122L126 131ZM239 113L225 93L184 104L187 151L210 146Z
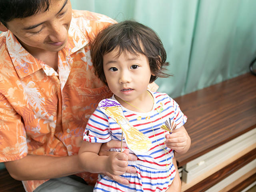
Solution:
M83 139L92 143L106 143L111 140L108 116L98 107L87 122Z

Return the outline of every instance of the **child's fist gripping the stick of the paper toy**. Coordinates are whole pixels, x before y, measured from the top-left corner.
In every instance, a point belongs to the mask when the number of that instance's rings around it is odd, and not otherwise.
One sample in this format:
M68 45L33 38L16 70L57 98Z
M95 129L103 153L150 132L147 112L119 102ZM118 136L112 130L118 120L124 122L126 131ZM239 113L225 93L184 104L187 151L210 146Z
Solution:
M122 175L126 172L128 166L128 154L126 149L124 152L115 152L108 156L106 163L106 171L113 175Z

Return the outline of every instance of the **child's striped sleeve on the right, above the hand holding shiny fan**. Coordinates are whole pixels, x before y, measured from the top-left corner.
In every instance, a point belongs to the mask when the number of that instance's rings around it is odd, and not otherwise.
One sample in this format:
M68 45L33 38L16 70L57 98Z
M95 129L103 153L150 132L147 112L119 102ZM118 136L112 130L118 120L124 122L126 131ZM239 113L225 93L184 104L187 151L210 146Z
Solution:
M174 122L176 124L176 129L180 128L181 126L183 126L186 122L187 122L187 116L183 114L183 112L180 110L180 106L178 105L178 103L176 103L176 101L174 101L172 98L170 98L170 103L173 106L173 110L174 110Z

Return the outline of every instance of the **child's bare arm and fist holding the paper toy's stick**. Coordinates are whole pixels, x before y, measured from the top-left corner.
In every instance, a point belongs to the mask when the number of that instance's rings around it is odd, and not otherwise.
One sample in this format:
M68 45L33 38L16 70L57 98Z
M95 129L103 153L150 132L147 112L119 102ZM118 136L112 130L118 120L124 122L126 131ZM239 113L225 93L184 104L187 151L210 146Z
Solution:
M101 145L101 143L83 141L78 152L78 158L84 170L91 173L124 174L128 166L128 150L122 153L115 152L110 156L99 156L98 152Z

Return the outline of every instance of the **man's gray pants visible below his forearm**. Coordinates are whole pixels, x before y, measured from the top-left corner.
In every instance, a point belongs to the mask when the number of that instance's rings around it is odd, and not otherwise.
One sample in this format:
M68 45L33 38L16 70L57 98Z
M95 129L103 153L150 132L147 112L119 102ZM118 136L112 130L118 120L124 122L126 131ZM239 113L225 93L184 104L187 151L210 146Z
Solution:
M34 192L92 192L93 186L75 175L50 179L40 185Z

